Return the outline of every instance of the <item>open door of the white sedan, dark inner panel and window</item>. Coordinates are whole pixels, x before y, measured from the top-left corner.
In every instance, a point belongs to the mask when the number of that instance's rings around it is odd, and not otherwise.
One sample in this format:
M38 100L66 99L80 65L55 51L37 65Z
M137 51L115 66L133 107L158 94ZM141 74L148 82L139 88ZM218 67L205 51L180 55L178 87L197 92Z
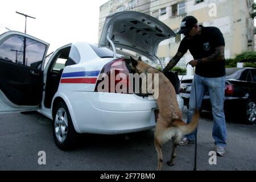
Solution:
M21 32L0 35L0 113L38 109L48 47Z

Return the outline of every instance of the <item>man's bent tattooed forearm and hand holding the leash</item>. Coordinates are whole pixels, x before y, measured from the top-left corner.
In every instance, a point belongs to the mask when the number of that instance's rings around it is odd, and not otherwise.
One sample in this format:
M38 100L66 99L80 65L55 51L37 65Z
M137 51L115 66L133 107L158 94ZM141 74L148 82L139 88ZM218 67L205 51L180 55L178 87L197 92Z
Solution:
M210 55L209 57L201 59L201 63L207 63L212 61L222 61L225 59L224 56L225 46L218 46L215 48L215 52ZM189 64L192 65L192 67L195 67L198 63L197 60L192 60L189 62Z

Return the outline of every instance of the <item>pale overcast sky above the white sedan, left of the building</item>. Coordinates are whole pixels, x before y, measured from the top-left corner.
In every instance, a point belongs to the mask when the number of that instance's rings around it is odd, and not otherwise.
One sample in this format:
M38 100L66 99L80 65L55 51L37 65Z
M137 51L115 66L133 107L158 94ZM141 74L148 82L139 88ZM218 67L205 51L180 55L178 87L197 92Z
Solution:
M71 42L98 43L100 6L108 0L1 0L0 34L24 32L51 44L49 52ZM6 28L5 28L6 27Z

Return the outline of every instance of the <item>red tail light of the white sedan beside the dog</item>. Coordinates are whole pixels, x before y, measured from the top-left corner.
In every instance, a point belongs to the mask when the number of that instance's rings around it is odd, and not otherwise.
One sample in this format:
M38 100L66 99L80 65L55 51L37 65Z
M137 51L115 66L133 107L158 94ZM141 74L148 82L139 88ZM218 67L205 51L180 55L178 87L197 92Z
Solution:
M94 91L111 93L129 93L130 91L130 93L133 93L132 85L129 81L129 73L125 59L121 58L111 61L102 69ZM105 81L105 79L108 79L108 81ZM102 81L105 81L105 83L108 82L107 88L105 88L106 84L103 84L104 82ZM118 85L118 83L120 84ZM100 88L98 88L98 86L100 86ZM122 88L123 86L125 87ZM120 88L121 90L117 90L117 88Z

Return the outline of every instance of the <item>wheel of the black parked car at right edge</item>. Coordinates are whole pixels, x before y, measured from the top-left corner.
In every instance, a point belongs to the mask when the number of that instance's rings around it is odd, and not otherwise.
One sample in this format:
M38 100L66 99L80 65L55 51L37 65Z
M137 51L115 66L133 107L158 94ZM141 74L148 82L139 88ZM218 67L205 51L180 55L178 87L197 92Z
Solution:
M246 123L254 124L256 123L256 102L253 99L249 99L246 102Z

